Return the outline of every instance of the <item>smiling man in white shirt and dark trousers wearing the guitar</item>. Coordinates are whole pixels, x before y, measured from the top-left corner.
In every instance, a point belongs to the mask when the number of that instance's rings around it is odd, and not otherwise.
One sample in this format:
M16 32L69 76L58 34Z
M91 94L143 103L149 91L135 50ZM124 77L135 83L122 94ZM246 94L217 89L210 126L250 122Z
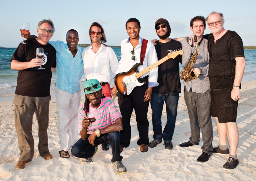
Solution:
M128 39L121 42L121 60L119 68L115 74L129 74L130 70L136 63L142 63L141 58L144 59L142 65L138 67L138 71L142 71L153 63L157 62L157 55L154 45L140 37L140 22L136 18L130 18L126 22L126 30L129 35ZM130 70L130 71L129 71ZM129 71L129 72L128 72ZM118 76L118 75L116 75ZM126 85L127 82L117 81L115 77L116 87L126 87L122 91L118 90L118 104L122 114L123 130L120 131L121 143L120 152L124 147L128 147L131 142L131 125L130 118L133 108L136 114L137 128L140 138L137 144L140 145L141 152L148 151L148 125L147 111L149 100L152 93L152 88L158 86L157 83L157 68L154 68L139 78L140 82L145 82L140 87L133 87ZM137 81L137 79L136 79ZM121 84L121 85L120 85ZM132 83L133 84L133 83ZM128 89L133 89L127 96Z

